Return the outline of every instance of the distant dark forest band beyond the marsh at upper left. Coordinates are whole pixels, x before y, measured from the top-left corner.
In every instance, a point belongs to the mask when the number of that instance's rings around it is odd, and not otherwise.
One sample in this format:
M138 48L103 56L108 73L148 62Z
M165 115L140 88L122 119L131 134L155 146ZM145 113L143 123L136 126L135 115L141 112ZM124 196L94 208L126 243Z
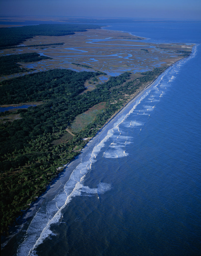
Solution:
M0 47L21 44L33 36L65 36L76 31L100 28L97 25L83 24L40 24L34 26L0 28Z

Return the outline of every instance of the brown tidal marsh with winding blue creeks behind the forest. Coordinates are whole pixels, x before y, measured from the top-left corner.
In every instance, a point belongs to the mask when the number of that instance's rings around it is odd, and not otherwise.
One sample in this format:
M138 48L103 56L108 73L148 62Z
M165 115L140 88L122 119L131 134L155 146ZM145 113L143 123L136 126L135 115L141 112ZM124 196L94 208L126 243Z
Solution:
M63 44L40 46L54 43ZM102 71L107 73L106 80L109 76L117 76L126 71L135 73L170 66L191 49L192 45L153 44L129 33L102 28L66 36L35 36L24 41L20 47L1 50L0 56L37 52L52 59L20 63L23 68L35 69L31 72L55 68ZM3 76L0 80L20 75L21 73Z

